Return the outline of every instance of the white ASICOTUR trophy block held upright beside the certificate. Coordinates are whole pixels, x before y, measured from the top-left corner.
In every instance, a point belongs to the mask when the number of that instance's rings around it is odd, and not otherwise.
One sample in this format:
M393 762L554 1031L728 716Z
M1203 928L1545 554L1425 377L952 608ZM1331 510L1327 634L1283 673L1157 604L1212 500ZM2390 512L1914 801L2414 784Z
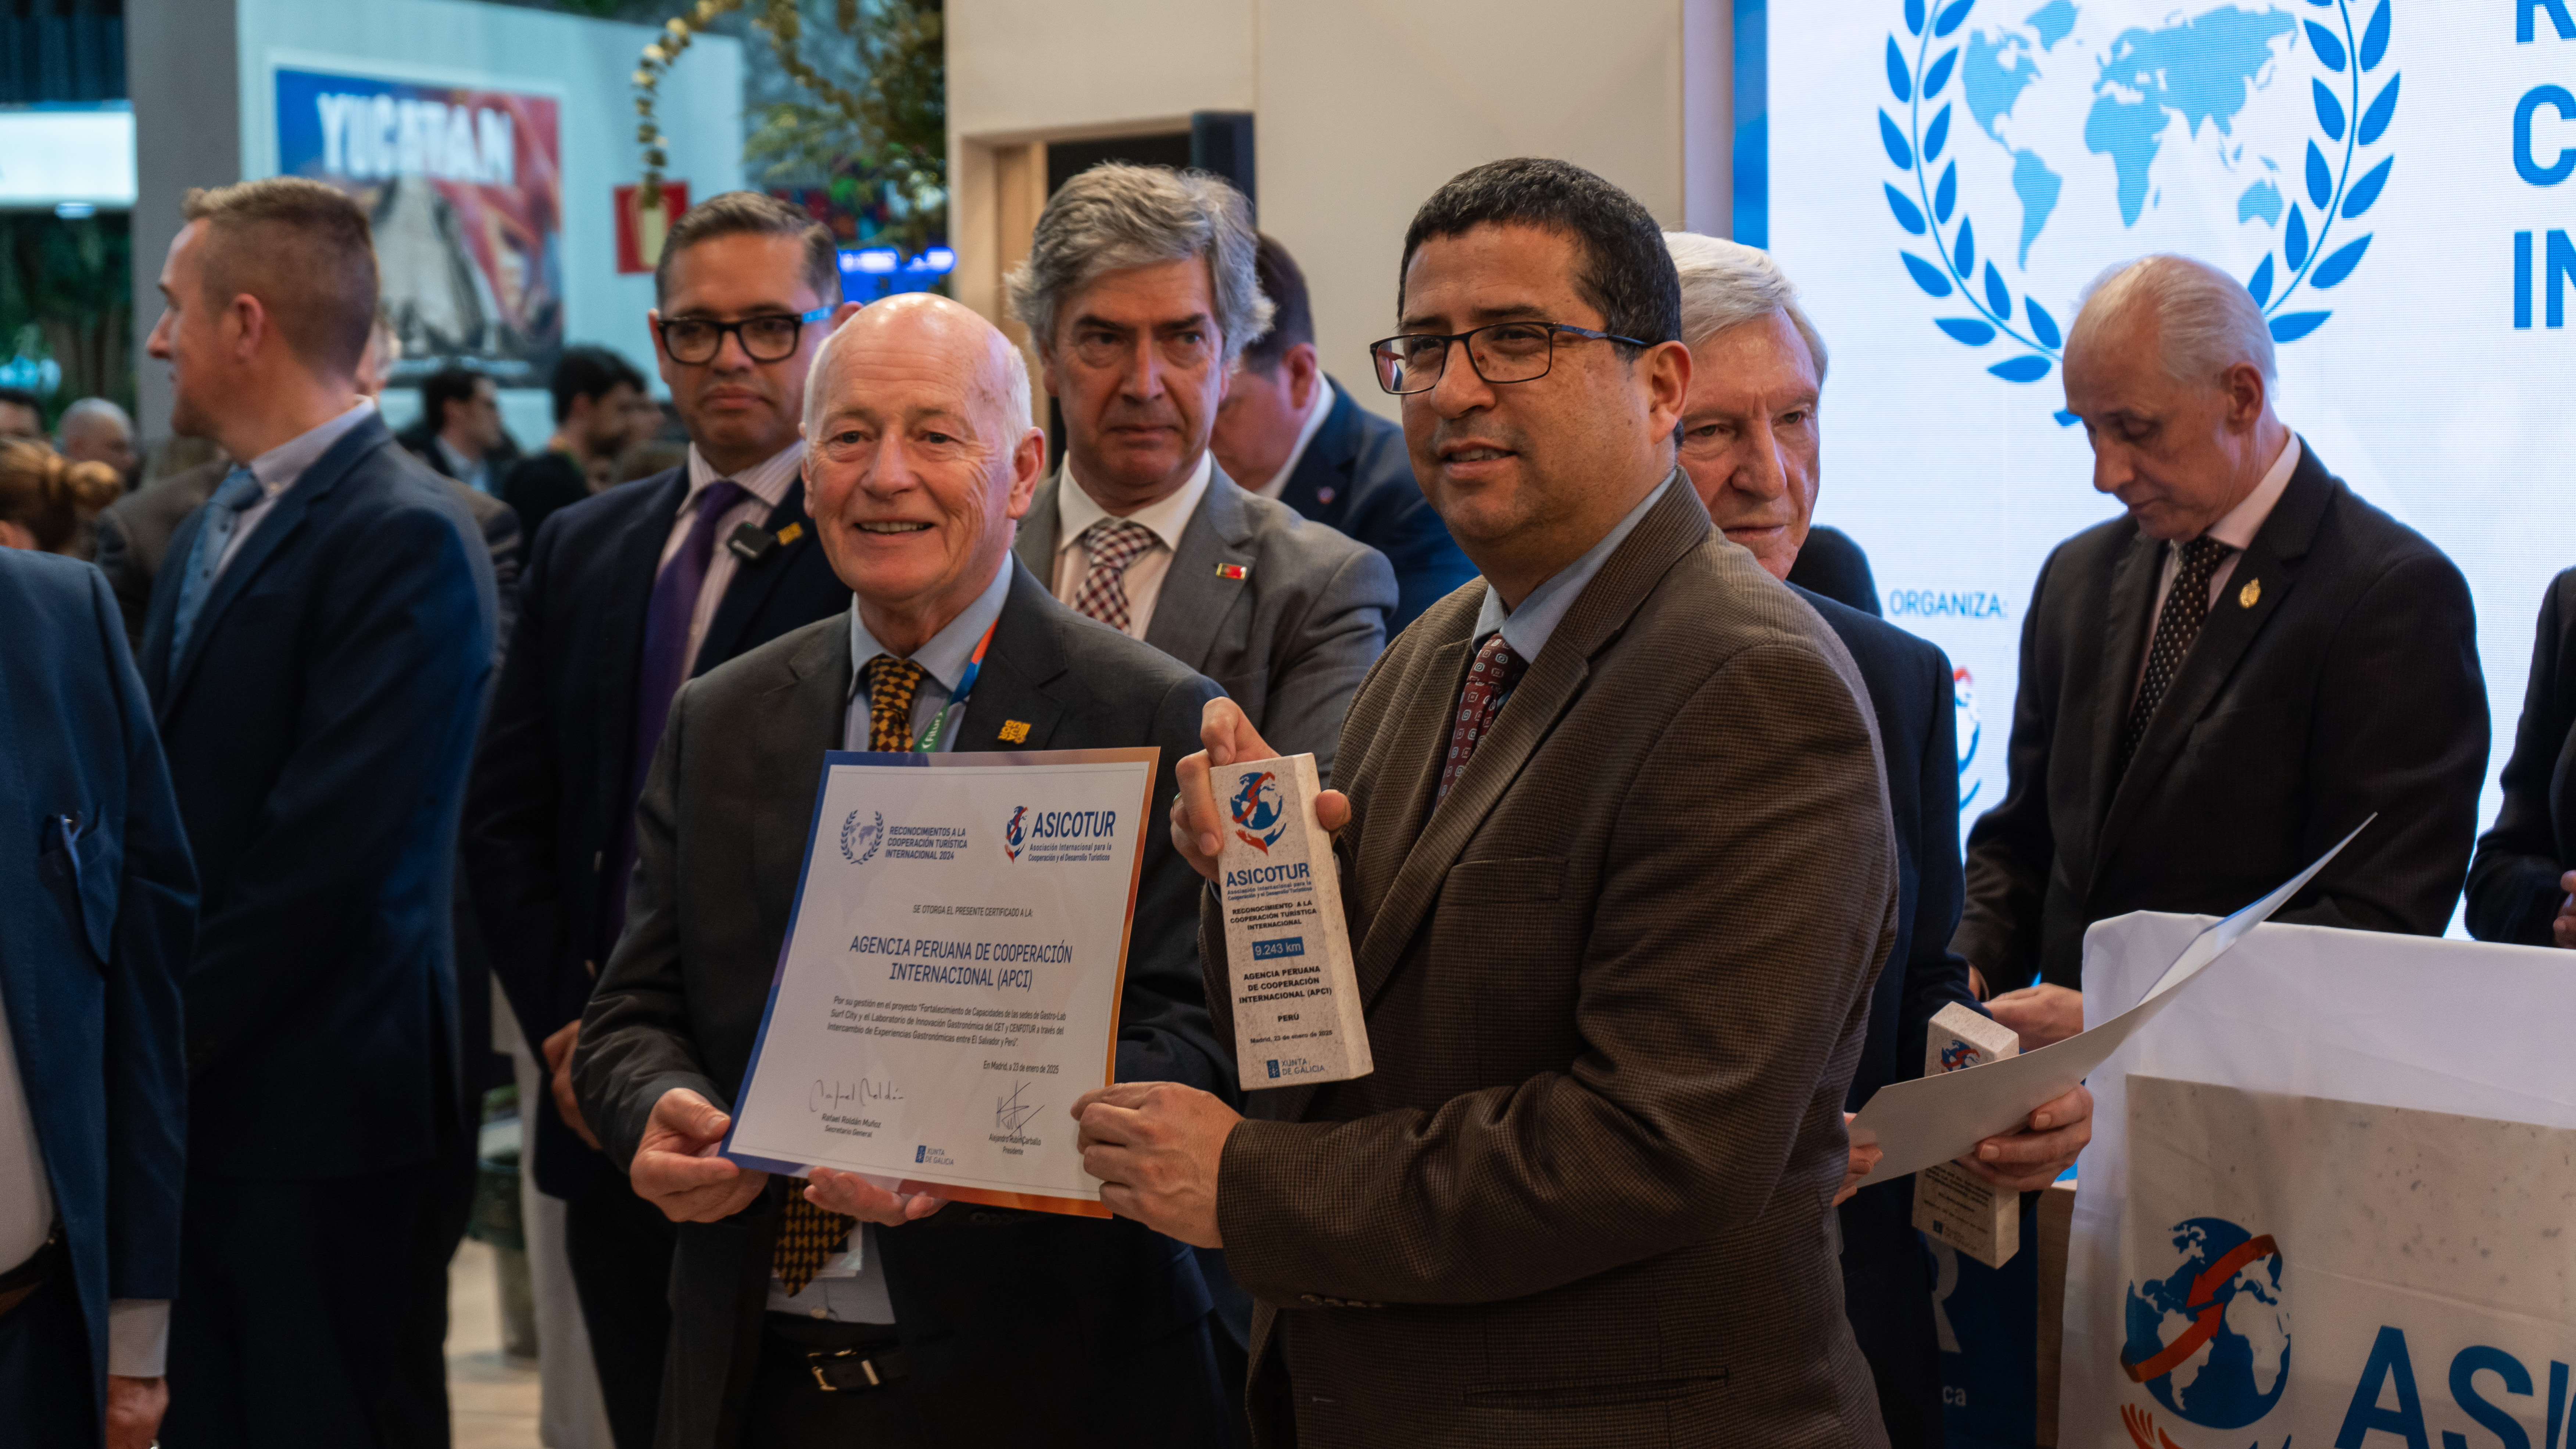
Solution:
M1314 818L1311 754L1211 772L1226 813L1218 891L1244 1089L1350 1081L1376 1071L1350 963L1342 875Z

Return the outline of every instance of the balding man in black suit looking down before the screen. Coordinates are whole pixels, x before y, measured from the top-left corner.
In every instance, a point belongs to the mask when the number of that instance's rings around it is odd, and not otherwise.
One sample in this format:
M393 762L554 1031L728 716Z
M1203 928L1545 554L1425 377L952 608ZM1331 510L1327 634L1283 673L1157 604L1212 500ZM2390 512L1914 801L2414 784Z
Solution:
M2275 921L2442 934L2486 775L2460 569L2272 409L2272 335L2226 273L2107 273L2066 337L2094 489L2022 620L2012 785L1968 834L1953 950L2035 1048L2084 1027L2084 929L2223 916L2378 813Z

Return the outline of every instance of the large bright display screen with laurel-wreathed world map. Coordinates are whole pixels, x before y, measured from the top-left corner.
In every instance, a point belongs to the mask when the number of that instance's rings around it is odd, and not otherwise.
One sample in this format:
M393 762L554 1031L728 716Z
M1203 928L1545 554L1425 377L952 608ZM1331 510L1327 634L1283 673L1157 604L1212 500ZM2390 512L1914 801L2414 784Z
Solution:
M2146 252L2246 281L2280 342L2280 414L2468 574L2494 818L2540 595L2576 564L2568 10L1739 5L1765 46L1739 144L1767 165L1739 165L1736 229L1832 347L1816 520L1860 540L1888 618L1958 667L1963 824L2004 793L2040 561L2117 515L2061 417L2063 332L2092 278ZM2388 679L2385 708L2406 687Z

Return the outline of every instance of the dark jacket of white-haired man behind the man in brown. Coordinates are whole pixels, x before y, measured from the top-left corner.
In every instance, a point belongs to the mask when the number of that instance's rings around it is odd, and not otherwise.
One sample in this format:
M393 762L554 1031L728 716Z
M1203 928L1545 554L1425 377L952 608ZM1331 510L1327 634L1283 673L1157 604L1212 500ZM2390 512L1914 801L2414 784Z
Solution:
M1824 530L1808 533L1808 540L1819 533ZM1896 824L1896 945L1870 991L1870 1032L1842 1099L1844 1112L1860 1112L1880 1086L1922 1076L1935 1011L1953 1001L1978 1011L1968 991L1968 963L1950 950L1960 909L1958 705L1950 656L1935 643L1798 584L1790 589L1852 651L1870 690L1888 770L1888 816ZM1914 1181L1865 1186L1839 1215L1842 1302L1878 1380L1888 1441L1899 1449L1940 1449L1932 1259L1914 1233Z

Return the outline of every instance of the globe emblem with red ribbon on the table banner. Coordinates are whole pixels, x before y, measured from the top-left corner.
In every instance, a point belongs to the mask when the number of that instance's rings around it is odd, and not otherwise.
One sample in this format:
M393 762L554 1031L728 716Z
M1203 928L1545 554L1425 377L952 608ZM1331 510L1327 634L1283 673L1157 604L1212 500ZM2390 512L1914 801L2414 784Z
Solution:
M2290 1305L2280 1243L2226 1217L2174 1225L2174 1264L2128 1287L2120 1367L2202 1428L2244 1428L2290 1382Z

